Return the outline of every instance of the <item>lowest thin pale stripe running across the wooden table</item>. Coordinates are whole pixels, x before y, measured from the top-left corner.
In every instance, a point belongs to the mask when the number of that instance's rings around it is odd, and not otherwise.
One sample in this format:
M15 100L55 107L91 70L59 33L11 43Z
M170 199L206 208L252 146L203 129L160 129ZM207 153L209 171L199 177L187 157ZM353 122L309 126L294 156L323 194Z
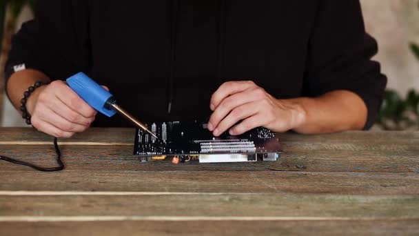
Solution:
M195 222L195 221L349 221L349 220L400 220L416 218L380 218L380 217L207 217L207 216L3 216L0 222L115 222L115 221L150 221L150 222Z

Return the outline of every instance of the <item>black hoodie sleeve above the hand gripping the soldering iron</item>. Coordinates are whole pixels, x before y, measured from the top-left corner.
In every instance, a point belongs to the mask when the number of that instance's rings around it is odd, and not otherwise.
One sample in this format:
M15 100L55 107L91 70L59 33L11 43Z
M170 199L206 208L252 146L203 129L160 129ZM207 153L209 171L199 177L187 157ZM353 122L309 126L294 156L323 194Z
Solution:
M34 19L23 23L12 38L6 85L14 70L23 64L44 72L50 79L65 79L90 70L88 2L35 1Z

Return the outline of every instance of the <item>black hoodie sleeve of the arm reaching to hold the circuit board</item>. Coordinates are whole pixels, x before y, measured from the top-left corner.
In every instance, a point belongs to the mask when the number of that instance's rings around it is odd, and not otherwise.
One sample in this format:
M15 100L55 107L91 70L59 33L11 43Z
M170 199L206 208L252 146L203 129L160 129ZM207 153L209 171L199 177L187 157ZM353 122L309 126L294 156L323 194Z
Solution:
M378 115L387 78L376 55L376 41L367 35L358 0L320 0L309 39L305 91L311 97L332 90L349 90L368 109L364 129Z

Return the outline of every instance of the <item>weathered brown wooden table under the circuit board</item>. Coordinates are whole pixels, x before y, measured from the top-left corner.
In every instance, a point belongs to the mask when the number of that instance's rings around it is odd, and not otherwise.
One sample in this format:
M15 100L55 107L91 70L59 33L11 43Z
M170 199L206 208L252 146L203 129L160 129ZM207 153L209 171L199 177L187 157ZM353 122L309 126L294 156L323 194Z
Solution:
M176 166L92 128L61 139L61 172L0 161L0 235L419 234L419 132L279 137L276 162ZM55 165L30 128L0 128L0 153Z

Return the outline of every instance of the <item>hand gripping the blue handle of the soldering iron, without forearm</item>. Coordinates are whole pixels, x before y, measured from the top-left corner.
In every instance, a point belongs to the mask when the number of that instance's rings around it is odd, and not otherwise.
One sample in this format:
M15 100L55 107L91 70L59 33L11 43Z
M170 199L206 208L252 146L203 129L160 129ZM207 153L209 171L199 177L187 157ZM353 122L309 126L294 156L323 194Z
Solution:
M54 137L72 137L87 130L97 113L61 80L34 90L26 108L32 126Z

